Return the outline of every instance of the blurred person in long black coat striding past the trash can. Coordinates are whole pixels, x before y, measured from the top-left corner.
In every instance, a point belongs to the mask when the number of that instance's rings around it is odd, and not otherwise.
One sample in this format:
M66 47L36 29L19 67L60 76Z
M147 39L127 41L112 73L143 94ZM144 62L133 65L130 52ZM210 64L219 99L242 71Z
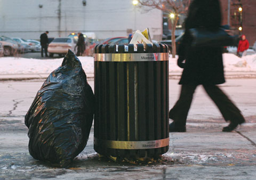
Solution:
M193 39L189 34L190 28L217 30L220 26L219 0L194 0L190 4L185 21L185 35L178 48L178 66L184 69L179 82L182 85L179 100L169 112L169 118L173 120L169 125L170 132L186 132L188 111L198 85L203 85L223 118L230 121L230 124L222 129L223 132L231 132L245 122L240 110L217 86L225 83L222 47L191 46Z

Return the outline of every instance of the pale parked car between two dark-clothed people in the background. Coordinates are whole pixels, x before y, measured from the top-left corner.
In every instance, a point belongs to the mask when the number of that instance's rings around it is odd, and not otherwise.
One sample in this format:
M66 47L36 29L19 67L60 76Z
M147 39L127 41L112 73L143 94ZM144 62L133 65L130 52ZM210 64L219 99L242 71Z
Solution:
M74 38L55 38L48 46L49 56L53 57L54 54L59 54L59 56L65 55L69 49L75 53L75 46L76 43Z

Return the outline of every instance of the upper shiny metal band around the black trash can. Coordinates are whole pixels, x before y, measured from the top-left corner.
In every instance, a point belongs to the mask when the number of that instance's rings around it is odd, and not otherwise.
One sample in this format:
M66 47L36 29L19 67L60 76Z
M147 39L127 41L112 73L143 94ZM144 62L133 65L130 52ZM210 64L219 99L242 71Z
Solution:
M169 61L169 53L96 53L94 61Z

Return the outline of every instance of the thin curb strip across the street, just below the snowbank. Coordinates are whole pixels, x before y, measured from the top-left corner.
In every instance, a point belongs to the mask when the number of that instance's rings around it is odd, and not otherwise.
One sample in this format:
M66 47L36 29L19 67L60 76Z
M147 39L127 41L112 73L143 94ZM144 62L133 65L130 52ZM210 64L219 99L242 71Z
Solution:
M49 76L47 73L30 73L30 74L7 74L7 75L0 75L0 81L6 80L33 80L33 79L46 79ZM93 73L86 73L88 79L93 80L94 74ZM170 79L179 79L181 76L181 72L169 72ZM228 79L232 78L256 78L256 72L225 72L225 77Z

